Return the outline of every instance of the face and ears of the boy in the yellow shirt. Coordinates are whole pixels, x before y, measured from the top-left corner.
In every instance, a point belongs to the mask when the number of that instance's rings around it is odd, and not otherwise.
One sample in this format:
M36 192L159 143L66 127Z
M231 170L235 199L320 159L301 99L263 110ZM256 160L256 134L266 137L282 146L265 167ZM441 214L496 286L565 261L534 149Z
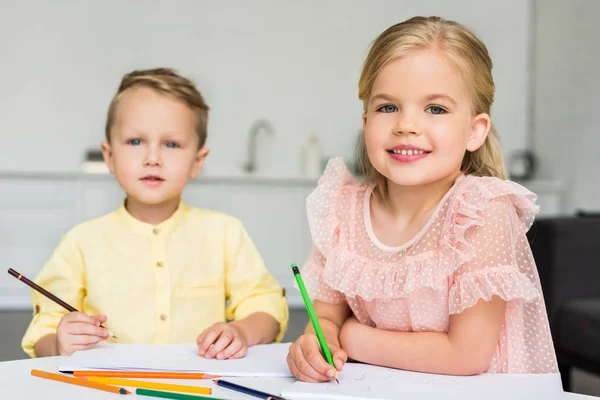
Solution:
M149 205L178 199L208 149L198 149L195 117L182 102L149 88L121 98L104 161L128 197Z

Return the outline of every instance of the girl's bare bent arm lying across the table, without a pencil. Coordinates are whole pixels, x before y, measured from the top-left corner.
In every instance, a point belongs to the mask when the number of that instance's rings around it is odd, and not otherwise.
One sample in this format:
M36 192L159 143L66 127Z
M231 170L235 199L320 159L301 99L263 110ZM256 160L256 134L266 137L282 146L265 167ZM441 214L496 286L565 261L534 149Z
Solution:
M448 333L394 332L348 320L340 342L348 357L375 365L446 375L487 370L496 351L506 302L493 296L450 317Z

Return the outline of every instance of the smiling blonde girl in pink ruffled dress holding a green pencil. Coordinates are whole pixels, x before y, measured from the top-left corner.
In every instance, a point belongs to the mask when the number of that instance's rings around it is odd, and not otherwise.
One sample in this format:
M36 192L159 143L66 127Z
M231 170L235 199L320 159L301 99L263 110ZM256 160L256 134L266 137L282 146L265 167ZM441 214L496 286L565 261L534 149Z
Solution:
M557 372L526 239L536 196L507 181L492 61L466 27L415 17L373 43L359 82L366 180L329 162L308 198L303 269L335 369ZM300 380L331 380L310 324Z

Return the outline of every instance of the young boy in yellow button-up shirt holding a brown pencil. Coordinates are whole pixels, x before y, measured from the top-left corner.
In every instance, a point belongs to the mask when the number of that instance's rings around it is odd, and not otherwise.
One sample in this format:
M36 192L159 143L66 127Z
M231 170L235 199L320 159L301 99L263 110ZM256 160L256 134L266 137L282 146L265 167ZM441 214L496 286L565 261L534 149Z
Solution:
M281 340L282 290L241 223L181 201L208 154L207 118L201 94L173 70L125 75L102 153L127 196L117 211L68 232L37 276L81 312L33 291L22 341L31 357L70 355L103 340L195 339L201 355L227 359Z

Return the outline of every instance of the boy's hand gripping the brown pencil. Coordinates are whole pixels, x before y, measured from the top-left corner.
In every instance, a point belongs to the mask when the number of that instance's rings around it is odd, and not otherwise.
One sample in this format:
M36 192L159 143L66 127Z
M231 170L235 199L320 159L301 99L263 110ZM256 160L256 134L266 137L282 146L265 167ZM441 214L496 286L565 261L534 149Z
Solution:
M100 328L105 321L104 315L89 316L81 312L70 312L63 316L56 329L58 355L70 356L108 339L108 330Z

